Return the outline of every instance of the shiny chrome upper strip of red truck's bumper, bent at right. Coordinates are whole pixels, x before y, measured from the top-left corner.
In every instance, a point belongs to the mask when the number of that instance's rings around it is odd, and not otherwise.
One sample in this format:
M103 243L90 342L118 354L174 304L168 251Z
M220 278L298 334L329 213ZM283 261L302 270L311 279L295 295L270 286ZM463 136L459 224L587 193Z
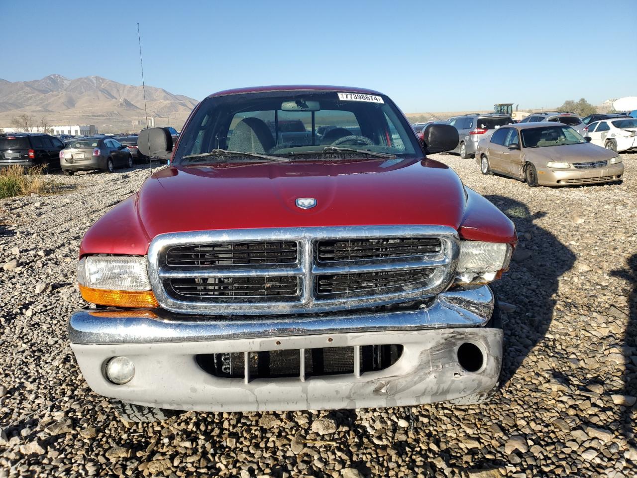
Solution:
M156 310L78 310L68 324L72 344L147 344L294 337L326 333L481 327L494 308L489 286L440 293L417 310L223 317Z

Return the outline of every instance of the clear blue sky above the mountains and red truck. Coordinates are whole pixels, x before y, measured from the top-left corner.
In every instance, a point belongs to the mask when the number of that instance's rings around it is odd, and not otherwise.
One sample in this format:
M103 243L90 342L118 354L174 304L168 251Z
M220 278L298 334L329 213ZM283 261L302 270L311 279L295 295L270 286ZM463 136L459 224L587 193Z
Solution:
M141 85L139 22L146 84L195 99L253 85L345 85L413 113L637 96L637 0L93 4L0 0L0 44L12 45L0 78Z

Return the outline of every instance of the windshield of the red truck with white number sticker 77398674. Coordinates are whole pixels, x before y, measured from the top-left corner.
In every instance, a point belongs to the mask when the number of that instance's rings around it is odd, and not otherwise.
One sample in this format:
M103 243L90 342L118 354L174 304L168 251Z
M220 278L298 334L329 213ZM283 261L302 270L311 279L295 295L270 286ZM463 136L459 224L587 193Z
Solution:
M231 94L201 103L182 133L175 159L187 163L213 150L306 160L315 152L321 159L330 146L339 147L338 152L330 150L331 160L366 157L366 152L422 156L410 130L386 96L338 91ZM241 159L258 161L254 156Z

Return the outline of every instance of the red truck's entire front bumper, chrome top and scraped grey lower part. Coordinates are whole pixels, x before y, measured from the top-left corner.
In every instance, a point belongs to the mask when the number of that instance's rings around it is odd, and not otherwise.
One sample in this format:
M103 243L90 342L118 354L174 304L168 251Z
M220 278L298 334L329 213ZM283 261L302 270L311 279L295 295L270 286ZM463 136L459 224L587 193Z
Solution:
M80 310L69 321L71 348L96 393L177 410L248 411L391 407L486 394L497 383L503 331L485 326L494 296L482 286L439 294L426 307L398 312L279 317L201 317L163 310ZM459 363L475 345L475 372ZM197 365L197 354L399 344L384 370L320 377L234 379ZM108 359L132 360L124 385L104 377Z

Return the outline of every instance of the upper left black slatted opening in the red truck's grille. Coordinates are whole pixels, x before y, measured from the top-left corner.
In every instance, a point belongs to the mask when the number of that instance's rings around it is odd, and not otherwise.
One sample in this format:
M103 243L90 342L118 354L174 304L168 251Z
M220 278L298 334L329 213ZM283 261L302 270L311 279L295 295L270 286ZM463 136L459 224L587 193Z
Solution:
M294 241L217 242L171 247L164 259L169 267L227 267L294 264Z

